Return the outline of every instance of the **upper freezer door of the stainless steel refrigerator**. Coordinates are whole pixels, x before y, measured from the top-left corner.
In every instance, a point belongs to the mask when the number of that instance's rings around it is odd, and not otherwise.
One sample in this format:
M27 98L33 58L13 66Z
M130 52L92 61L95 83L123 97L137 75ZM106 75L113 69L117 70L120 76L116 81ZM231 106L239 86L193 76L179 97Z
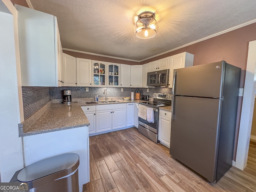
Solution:
M173 94L222 98L226 62L216 62L174 70Z

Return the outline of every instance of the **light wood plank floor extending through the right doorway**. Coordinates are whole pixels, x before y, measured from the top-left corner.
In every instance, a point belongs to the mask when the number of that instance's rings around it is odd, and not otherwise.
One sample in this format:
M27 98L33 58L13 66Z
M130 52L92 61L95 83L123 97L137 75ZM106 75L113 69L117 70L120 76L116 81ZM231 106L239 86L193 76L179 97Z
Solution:
M235 167L216 183L174 160L136 128L90 137L90 182L84 192L256 192L256 143L248 165Z

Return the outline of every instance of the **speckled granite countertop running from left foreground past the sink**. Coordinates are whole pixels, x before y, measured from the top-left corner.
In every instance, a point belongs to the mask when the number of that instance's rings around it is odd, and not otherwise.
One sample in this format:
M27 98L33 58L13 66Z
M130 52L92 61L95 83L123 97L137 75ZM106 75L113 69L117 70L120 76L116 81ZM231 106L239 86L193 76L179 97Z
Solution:
M135 102L141 100L118 100L116 103L86 104L90 101L72 102L71 105L63 103L49 102L42 110L39 110L31 117L19 124L19 136L29 136L53 132L58 130L89 126L90 122L84 114L81 106L102 105L102 104L120 104Z

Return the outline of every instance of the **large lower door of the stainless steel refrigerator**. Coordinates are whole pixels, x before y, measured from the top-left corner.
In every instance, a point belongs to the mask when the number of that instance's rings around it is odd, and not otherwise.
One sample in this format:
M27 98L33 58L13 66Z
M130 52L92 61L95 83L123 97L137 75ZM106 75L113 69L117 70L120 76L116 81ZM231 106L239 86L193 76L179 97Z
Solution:
M170 154L210 182L216 181L222 100L174 96Z

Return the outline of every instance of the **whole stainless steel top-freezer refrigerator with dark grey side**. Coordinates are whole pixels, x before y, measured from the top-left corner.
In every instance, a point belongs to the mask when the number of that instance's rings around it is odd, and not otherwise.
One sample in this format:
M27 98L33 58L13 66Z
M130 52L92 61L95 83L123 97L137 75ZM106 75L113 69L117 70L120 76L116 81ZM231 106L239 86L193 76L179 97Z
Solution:
M225 61L174 70L170 154L213 183L232 166L240 73Z

